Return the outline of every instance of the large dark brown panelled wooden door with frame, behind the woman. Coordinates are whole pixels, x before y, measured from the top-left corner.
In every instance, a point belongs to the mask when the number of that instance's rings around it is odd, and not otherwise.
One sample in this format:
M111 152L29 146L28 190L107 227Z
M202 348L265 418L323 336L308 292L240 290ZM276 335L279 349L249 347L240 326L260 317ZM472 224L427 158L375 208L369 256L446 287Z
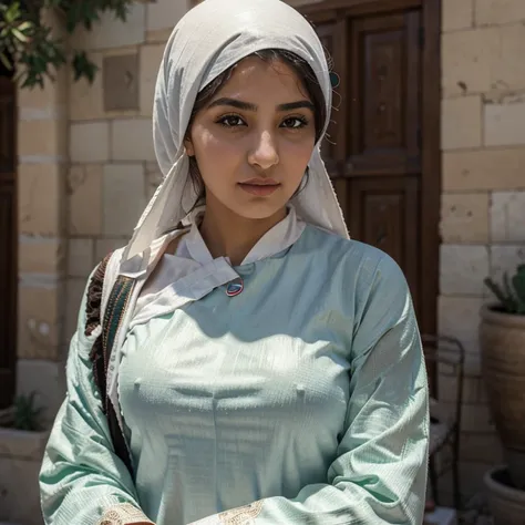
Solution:
M340 84L322 146L352 238L403 269L435 332L440 202L439 0L305 7Z

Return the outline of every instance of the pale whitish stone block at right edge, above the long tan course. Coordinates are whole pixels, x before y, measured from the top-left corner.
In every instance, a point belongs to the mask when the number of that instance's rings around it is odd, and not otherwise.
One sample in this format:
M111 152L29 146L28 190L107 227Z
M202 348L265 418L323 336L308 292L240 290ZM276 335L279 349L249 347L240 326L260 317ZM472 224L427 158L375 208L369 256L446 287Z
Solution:
M487 146L525 145L525 96L502 104L485 104L484 132Z

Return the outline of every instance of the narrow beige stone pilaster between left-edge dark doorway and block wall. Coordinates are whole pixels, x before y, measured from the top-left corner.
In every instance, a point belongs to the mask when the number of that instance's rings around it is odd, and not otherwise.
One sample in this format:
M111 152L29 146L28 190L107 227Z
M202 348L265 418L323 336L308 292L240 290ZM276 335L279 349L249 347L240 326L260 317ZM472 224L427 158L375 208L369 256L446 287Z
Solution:
M54 23L60 33L60 23ZM18 103L18 393L35 390L54 413L63 395L68 76L44 90L19 90Z

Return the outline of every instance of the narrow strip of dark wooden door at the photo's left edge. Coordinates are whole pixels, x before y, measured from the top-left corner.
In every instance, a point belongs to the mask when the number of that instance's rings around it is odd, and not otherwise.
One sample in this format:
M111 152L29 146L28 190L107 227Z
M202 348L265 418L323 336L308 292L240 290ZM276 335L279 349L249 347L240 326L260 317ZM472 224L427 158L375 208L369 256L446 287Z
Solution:
M0 75L0 409L14 393L17 333L16 100Z

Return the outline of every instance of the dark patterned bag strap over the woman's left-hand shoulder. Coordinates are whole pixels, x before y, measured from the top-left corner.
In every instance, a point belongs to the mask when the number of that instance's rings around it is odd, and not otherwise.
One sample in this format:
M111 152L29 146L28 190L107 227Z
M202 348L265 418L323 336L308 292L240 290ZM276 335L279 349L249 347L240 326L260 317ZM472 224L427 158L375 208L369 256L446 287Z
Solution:
M93 375L101 394L102 410L107 418L115 454L123 461L130 473L133 473L126 440L119 424L115 408L107 397L106 378L115 336L125 313L135 281L131 277L125 276L116 278L107 299L103 322L101 322L102 288L111 256L112 254L109 254L104 257L87 287L85 334L90 336L97 327L102 328L90 352L90 359L93 363Z

